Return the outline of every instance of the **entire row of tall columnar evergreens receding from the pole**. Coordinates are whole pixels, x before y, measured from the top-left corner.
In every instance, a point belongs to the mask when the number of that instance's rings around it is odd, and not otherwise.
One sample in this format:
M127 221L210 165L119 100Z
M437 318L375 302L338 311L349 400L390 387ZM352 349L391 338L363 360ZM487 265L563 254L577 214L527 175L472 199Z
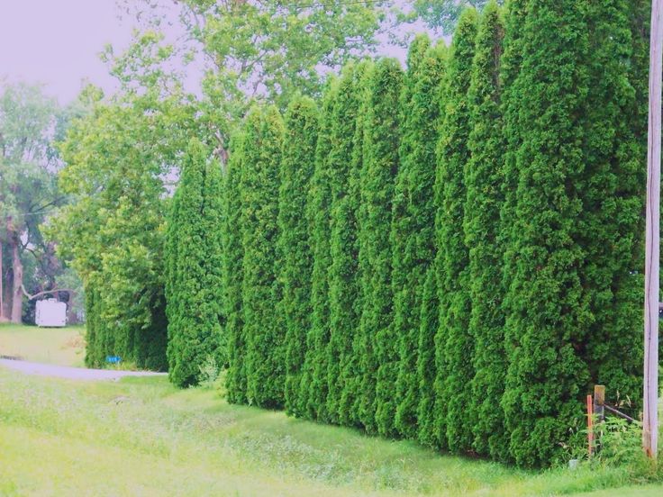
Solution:
M192 142L171 379L215 357L230 402L528 466L563 456L592 384L637 399L641 4L491 2L406 73L350 64L319 105L252 109L223 177Z

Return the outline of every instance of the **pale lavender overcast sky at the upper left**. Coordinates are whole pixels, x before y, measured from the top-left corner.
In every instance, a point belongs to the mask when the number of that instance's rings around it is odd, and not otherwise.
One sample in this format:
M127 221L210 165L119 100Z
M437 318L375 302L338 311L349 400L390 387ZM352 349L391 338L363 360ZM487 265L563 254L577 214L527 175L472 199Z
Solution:
M76 98L84 80L113 92L99 52L131 41L131 20L118 14L116 0L0 0L0 83L42 83L60 104ZM403 50L385 51L403 59Z

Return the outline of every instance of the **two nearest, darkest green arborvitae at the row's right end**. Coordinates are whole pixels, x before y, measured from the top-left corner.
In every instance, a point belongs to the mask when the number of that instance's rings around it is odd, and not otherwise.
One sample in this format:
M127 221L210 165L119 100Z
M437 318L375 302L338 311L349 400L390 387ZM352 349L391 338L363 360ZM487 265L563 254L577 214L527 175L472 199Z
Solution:
M555 441L583 422L592 383L608 381L632 398L640 391L638 354L617 359L615 351L640 349L632 330L642 166L623 121L634 96L622 64L631 54L626 5L532 0L513 15L524 12L522 68L506 101L518 113L518 140L507 168L517 191L508 212L502 403L511 456L541 465L561 456Z

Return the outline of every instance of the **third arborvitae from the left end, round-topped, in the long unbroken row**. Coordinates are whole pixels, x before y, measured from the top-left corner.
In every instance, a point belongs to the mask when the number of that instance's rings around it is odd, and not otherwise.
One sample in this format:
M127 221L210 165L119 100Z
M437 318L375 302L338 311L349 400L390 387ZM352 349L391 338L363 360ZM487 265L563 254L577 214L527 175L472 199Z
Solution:
M315 167L318 109L312 99L295 97L286 113L286 138L278 194L279 250L283 298L279 312L286 323L286 411L301 416L299 386L304 344L311 326L313 258L308 243L306 195Z

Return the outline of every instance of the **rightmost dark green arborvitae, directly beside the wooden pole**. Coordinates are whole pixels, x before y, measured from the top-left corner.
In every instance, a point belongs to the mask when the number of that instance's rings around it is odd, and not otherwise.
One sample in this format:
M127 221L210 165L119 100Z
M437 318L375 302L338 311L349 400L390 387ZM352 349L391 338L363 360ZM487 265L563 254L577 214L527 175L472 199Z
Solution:
M586 10L589 140L576 228L585 258L582 288L593 318L587 323L584 348L592 381L607 385L613 401L617 395L633 399L631 409L637 415L642 388L644 282L639 269L644 258L647 156L641 140L644 120L638 124L624 118L639 115L636 82L629 80L633 68L623 62L634 55L631 31L625 27L632 8L630 1L611 0Z

